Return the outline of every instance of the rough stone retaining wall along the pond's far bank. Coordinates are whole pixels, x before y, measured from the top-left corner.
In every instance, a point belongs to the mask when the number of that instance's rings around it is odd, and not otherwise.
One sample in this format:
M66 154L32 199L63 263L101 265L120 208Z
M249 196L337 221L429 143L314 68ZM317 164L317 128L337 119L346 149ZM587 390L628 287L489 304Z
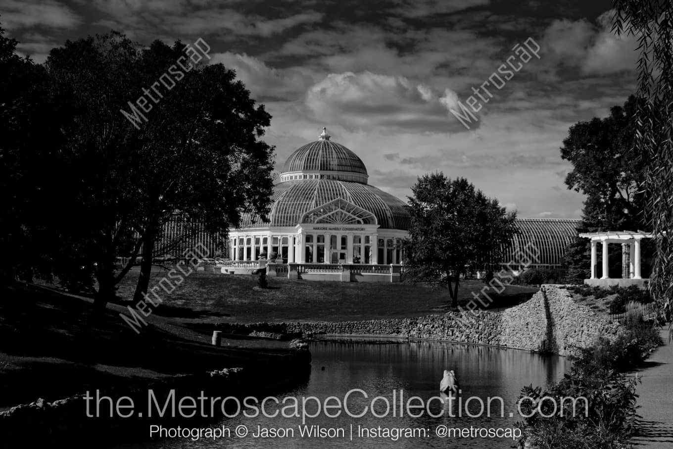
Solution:
M229 329L223 324L224 329ZM441 315L345 322L237 324L230 331L295 335L381 335L455 341L571 355L599 336L613 338L619 325L575 302L569 291L542 285L530 300L503 312L449 312Z

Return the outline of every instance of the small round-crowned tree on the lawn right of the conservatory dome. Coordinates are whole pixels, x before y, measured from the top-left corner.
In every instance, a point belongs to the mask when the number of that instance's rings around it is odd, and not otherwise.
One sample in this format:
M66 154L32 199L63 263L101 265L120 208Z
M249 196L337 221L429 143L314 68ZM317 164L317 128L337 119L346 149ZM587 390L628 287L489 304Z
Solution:
M446 287L455 307L460 275L500 255L516 234L516 213L507 213L465 178L450 180L441 172L419 178L411 191L406 273Z

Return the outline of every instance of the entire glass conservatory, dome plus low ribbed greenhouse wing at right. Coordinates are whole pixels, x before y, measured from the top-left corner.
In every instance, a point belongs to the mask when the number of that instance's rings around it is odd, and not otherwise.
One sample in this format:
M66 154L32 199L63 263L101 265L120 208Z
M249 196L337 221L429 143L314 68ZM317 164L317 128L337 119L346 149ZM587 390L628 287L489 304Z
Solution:
M317 141L287 158L269 221L245 215L240 228L229 232L230 260L221 272L252 273L266 266L269 275L291 279L399 281L400 242L409 235L411 217L404 202L369 185L367 178L362 160L331 141L323 128ZM520 233L490 268L511 267L530 246L534 257L527 267L561 267L578 224L577 219L517 219Z

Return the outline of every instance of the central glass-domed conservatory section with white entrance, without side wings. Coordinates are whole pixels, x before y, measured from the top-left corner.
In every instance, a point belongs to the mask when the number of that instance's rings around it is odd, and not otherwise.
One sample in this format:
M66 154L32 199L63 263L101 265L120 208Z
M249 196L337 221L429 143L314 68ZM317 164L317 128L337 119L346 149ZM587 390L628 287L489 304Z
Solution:
M365 270L364 265L398 265L409 212L400 199L367 184L367 178L362 160L331 141L323 128L317 141L287 158L269 221L246 215L240 228L229 232L231 265L244 268L236 262L273 255L277 263L339 265L331 267L339 271L344 264ZM304 268L312 273L330 270ZM298 277L302 274L307 273Z

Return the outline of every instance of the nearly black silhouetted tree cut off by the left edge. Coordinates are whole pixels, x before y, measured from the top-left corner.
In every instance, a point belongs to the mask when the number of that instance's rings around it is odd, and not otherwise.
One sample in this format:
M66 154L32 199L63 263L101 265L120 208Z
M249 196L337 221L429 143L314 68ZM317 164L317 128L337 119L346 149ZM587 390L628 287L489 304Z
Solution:
M17 41L0 28L0 248L11 260L0 268L4 285L15 279L30 281L43 267L42 230L52 221L53 194L58 180L54 168L58 153L61 114L50 102L44 68L19 57ZM52 257L57 254L52 254ZM40 270L44 273L48 270Z

